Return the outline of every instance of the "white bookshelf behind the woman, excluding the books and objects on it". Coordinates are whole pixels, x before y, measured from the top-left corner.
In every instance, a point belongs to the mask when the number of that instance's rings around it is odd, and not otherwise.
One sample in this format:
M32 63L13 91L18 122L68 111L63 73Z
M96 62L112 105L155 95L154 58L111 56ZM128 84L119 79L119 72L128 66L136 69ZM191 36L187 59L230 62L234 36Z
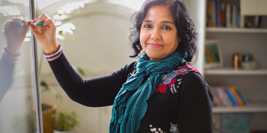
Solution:
M249 105L213 107L215 127L220 128L220 116L223 113L251 113L249 130L267 130L267 12L261 13L267 9L267 0L223 1L235 4L237 8L240 8L241 28L205 27L205 39L218 40L220 43L223 66L216 69L205 69L204 78L210 86L237 86L248 99ZM264 16L263 28L242 28L244 27L244 22L241 22L244 21L243 17L254 15ZM207 16L206 19L208 19ZM232 55L236 52L242 55L247 52L253 54L259 67L253 70L233 69ZM220 131L215 131L215 133L220 133Z

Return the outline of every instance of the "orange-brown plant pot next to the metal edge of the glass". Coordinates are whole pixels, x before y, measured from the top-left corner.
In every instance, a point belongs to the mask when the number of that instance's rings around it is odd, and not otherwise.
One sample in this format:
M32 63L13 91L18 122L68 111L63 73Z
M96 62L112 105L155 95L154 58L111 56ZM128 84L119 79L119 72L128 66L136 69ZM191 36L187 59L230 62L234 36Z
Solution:
M52 114L56 114L57 106L53 103L42 102L42 119L44 133L53 133L54 119Z

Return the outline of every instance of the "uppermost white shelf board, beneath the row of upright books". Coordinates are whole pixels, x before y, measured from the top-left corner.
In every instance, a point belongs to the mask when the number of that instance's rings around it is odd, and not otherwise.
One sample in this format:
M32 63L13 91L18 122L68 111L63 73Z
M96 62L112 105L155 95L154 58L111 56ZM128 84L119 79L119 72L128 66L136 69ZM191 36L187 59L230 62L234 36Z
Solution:
M217 33L267 33L267 28L206 27L206 32Z

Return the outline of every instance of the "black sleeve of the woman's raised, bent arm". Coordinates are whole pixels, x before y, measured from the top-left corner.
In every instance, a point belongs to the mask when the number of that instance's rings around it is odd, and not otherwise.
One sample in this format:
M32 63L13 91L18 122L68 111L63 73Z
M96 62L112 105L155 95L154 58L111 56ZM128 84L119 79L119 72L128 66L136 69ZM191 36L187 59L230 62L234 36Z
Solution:
M57 82L69 96L79 104L90 107L113 105L114 99L134 68L135 62L121 69L91 79L83 79L68 62L64 53L53 61L48 61Z

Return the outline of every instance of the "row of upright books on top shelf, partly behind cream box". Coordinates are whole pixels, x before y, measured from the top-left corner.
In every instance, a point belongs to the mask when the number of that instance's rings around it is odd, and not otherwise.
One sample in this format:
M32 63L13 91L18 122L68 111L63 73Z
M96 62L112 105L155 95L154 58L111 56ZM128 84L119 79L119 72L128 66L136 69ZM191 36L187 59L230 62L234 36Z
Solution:
M240 27L240 8L219 0L207 0L207 27ZM260 28L263 16L246 16L246 28Z

